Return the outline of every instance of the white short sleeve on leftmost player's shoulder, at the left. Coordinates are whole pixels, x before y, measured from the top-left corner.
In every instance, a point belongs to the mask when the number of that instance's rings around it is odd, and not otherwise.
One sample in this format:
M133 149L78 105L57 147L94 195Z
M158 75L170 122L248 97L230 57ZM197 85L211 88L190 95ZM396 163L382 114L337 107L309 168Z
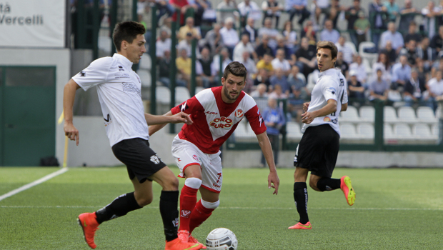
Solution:
M84 91L98 84L104 84L106 82L111 63L111 57L96 59L95 61L91 62L86 69L80 71L75 76L72 76L72 79L76 82L76 84L79 84L81 89L84 89Z

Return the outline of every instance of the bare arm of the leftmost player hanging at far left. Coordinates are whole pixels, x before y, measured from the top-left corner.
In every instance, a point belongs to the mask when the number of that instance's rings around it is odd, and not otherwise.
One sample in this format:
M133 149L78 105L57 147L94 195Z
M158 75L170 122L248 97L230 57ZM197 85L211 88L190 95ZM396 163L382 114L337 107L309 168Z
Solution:
M80 89L73 79L70 79L64 86L63 91L63 112L64 112L64 134L68 136L71 141L76 141L76 145L79 146L79 130L76 129L72 123L73 114L72 107L74 106L75 92Z

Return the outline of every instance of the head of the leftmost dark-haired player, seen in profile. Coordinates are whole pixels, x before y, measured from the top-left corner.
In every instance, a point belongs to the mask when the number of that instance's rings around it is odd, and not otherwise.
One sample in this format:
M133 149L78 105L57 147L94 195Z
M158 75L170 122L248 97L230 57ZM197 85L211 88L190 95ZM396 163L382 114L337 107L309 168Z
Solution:
M124 21L116 24L112 40L117 52L126 56L134 64L139 63L141 55L146 52L144 47L146 44L145 32L143 24L136 21Z

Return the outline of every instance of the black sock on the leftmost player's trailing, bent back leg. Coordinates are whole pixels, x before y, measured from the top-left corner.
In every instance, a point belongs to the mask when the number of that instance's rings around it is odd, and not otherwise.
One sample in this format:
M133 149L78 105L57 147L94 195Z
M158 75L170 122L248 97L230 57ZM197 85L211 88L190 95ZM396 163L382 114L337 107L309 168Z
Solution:
M141 209L141 206L137 204L135 200L134 192L128 194L122 194L112 201L110 204L105 206L103 209L97 210L97 222L99 224L104 221L109 221L110 219L115 219L120 216L124 216L128 214L130 211L134 211L136 209Z

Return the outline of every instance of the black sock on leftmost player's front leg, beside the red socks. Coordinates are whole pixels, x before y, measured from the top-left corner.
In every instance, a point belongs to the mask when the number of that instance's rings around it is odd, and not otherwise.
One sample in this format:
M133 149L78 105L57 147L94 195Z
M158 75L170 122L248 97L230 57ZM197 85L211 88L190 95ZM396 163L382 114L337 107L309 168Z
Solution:
M161 191L160 214L163 219L164 236L166 241L173 241L179 227L179 191Z

